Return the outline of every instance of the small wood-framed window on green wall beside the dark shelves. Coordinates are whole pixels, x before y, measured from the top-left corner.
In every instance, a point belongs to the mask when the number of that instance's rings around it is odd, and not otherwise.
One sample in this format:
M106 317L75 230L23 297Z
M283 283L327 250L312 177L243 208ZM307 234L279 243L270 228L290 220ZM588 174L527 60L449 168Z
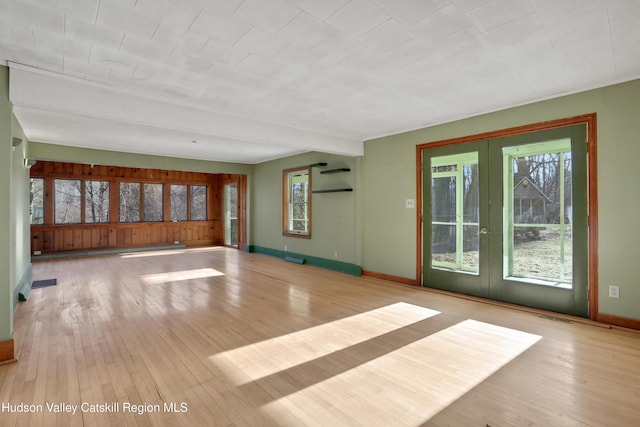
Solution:
M311 237L311 168L287 169L283 177L283 234Z

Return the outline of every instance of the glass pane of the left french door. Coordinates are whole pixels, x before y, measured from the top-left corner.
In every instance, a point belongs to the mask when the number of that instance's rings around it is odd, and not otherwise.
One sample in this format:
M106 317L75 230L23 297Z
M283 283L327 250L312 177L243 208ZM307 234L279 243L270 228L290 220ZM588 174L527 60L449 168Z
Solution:
M478 273L478 154L431 159L431 265Z

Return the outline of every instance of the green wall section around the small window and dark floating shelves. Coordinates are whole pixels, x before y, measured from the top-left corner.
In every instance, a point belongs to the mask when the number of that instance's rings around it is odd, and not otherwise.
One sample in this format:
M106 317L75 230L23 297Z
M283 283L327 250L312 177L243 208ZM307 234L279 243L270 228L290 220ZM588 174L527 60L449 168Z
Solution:
M312 194L311 239L282 235L282 171L326 162L312 168L313 190L349 187L353 192ZM321 170L350 168L339 174ZM358 191L360 159L331 154L306 153L255 166L253 175L250 244L258 248L317 257L322 260L360 266L361 212Z

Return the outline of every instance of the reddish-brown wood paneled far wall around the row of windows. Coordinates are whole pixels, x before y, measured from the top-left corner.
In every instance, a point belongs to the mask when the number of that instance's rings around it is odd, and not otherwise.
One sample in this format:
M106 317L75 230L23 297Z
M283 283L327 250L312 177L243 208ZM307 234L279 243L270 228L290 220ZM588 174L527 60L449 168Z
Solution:
M77 163L39 161L31 168L32 178L44 178L44 224L31 226L32 253L74 250L119 249L174 244L188 246L224 244L224 183L238 182L240 246L246 245L246 176L207 174L162 169L91 166ZM110 182L109 223L54 224L55 179L102 180ZM165 207L163 222L118 222L118 184L120 182L206 185L207 221L171 222ZM244 184L243 184L244 183ZM165 194L168 191L165 190ZM165 206L168 197L165 197Z

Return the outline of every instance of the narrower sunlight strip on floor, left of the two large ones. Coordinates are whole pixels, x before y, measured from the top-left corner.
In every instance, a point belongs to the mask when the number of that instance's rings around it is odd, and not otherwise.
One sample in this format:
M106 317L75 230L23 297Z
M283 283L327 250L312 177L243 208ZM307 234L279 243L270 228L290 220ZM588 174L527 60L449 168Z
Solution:
M398 302L354 316L218 353L209 359L244 384L440 314Z

